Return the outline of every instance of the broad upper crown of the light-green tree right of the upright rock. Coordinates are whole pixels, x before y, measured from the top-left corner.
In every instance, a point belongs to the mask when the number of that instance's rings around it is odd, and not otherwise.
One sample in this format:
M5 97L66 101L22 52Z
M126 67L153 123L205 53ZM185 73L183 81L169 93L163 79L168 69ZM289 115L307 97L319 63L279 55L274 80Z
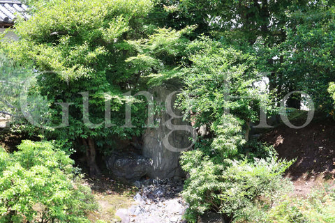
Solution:
M257 120L260 102L267 105L269 100L254 84L263 77L255 69L254 56L206 37L190 43L187 52L191 66L183 70L180 105L200 114L193 116L196 126L218 121L214 125L219 127L227 111L244 122Z

